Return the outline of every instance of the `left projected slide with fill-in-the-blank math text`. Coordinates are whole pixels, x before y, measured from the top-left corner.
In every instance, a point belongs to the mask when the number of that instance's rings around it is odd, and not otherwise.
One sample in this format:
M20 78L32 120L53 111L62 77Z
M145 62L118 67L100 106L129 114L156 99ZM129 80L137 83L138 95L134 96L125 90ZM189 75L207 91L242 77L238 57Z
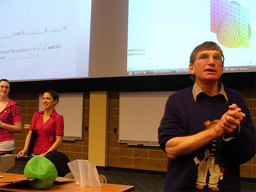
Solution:
M0 77L88 77L90 16L91 0L1 0Z

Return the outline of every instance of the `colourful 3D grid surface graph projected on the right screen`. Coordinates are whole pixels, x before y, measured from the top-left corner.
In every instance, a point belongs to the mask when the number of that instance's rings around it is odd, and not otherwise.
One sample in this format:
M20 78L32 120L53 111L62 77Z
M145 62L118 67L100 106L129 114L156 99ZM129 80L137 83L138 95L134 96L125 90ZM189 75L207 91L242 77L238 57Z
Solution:
M219 43L225 47L249 49L252 34L249 9L236 1L211 0L211 31L217 34Z

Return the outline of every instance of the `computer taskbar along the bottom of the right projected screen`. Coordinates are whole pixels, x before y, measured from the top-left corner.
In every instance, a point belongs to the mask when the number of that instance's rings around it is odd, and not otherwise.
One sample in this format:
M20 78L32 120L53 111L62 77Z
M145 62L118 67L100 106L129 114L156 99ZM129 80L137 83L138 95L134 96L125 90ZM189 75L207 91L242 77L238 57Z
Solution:
M256 66L224 67L224 73L256 72ZM182 75L190 74L188 69L162 69L162 70L127 70L129 76L150 76L150 75Z

